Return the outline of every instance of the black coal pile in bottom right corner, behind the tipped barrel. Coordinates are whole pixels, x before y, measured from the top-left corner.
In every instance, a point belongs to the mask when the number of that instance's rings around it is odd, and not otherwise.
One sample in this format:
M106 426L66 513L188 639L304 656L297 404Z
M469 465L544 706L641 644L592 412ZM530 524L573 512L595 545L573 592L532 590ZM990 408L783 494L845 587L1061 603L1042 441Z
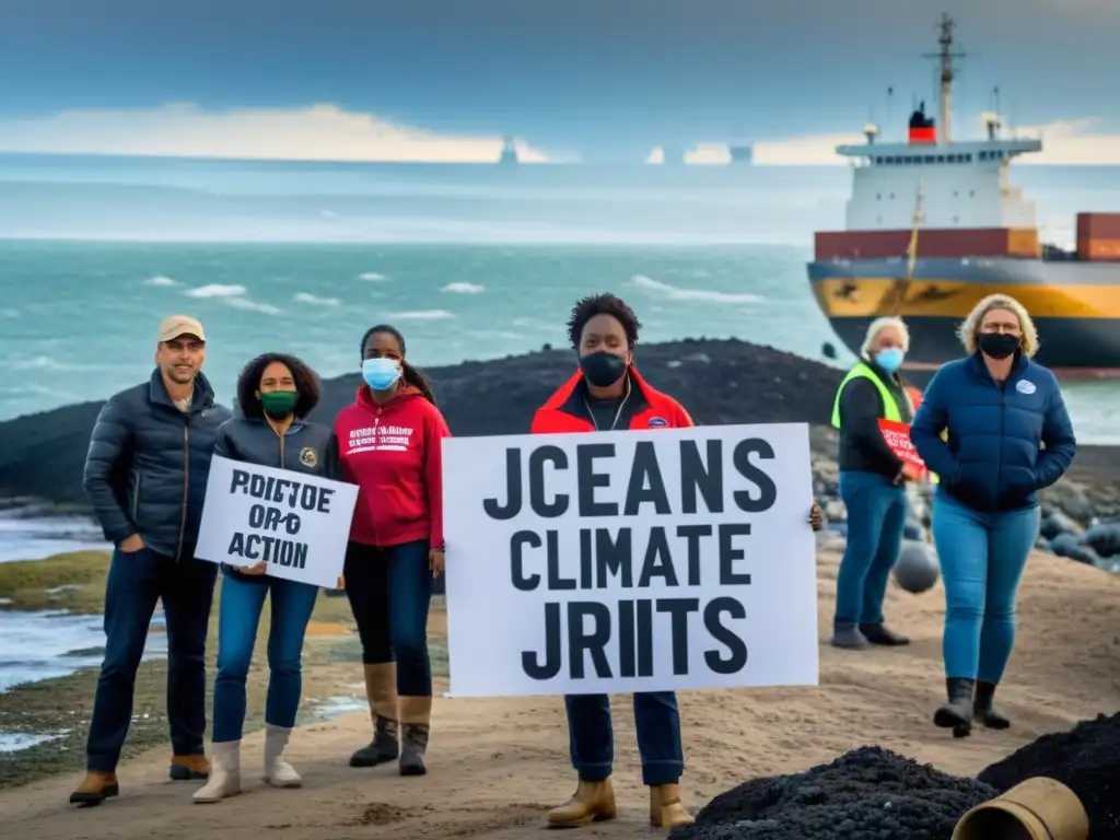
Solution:
M1090 840L1120 838L1120 712L1044 735L979 778L1002 793L1034 776L1056 778L1077 794L1089 814Z

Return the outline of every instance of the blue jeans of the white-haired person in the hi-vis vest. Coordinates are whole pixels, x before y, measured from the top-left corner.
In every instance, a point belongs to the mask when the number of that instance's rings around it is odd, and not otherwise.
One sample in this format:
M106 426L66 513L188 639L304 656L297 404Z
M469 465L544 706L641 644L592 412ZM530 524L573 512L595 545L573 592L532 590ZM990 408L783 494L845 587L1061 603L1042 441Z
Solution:
M883 599L906 525L906 491L878 473L840 473L848 544L837 577L834 624L880 624Z

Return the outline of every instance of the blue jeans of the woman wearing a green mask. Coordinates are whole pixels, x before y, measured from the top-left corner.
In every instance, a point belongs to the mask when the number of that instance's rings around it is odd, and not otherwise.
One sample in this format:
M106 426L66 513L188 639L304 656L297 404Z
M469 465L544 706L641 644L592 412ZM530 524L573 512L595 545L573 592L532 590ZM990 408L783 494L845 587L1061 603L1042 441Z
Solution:
M300 655L319 588L296 580L222 580L218 605L217 679L214 681L214 743L241 740L245 724L245 678L253 657L264 597L272 601L269 626L269 691L264 722L296 725L304 688Z

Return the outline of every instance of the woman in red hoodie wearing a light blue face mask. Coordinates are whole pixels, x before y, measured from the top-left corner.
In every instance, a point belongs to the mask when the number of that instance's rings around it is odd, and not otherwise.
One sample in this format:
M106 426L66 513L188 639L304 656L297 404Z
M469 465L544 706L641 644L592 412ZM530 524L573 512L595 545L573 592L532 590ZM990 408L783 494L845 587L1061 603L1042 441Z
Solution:
M362 377L354 404L335 419L343 477L358 487L343 578L374 725L349 763L400 757L401 775L421 776L431 728L428 608L444 571L442 439L451 432L394 327L362 337Z

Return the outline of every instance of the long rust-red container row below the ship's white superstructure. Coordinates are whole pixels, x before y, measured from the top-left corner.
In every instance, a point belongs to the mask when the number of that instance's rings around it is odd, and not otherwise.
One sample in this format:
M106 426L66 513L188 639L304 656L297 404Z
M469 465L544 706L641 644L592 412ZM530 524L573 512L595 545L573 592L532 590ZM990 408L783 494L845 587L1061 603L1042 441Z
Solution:
M905 258L911 231L822 231L815 236L818 260ZM943 259L1039 254L1034 227L941 227L918 230L917 255Z

